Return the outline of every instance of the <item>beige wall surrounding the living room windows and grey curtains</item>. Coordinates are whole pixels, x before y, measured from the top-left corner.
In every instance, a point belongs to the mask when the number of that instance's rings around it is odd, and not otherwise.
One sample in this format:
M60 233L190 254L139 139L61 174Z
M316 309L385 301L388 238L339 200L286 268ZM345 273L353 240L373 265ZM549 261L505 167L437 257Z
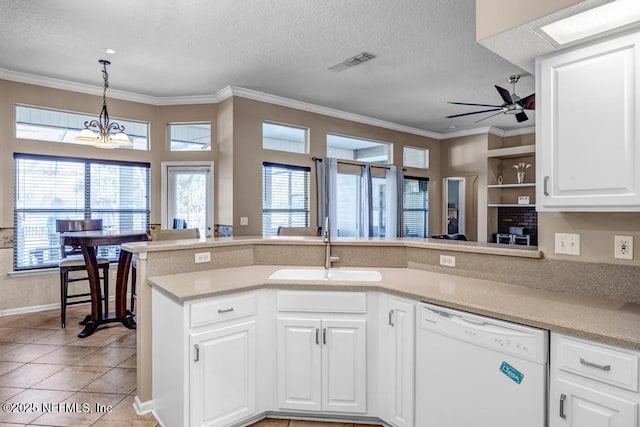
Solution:
M285 153L262 148L262 123L277 122L309 128L309 154ZM315 162L312 157L326 156L326 134L338 133L358 138L393 143L394 164L402 165L402 146L429 149L428 170L407 170L410 176L429 177L429 228L439 229L437 215L440 198L436 197L440 178L440 142L390 129L323 116L307 111L267 104L245 98L233 101L233 228L237 236L262 234L262 162L276 162L311 167L310 224L317 224ZM434 185L435 184L435 185ZM435 192L435 196L434 196ZM241 226L240 217L248 217L249 225Z

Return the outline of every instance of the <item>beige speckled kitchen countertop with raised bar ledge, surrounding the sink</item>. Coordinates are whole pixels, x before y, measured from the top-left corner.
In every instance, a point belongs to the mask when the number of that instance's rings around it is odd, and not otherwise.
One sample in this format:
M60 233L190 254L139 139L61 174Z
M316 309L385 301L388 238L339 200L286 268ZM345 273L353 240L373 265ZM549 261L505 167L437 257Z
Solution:
M331 242L336 268L375 269L380 282L270 280L280 268L322 268L319 237L133 242L138 258L136 408L151 401L152 286L178 302L259 288L382 291L640 349L637 266L546 259L535 247L440 239ZM203 254L204 253L204 254ZM208 255L206 254L208 253ZM210 261L195 263L198 259ZM455 267L440 257L455 257Z

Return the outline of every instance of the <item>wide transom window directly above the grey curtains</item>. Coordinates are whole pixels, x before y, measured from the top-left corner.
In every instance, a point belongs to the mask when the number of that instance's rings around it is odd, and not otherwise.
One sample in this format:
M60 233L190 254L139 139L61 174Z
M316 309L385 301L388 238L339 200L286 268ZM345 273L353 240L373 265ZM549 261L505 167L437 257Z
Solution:
M369 139L327 134L327 157L368 163L392 163L391 144Z

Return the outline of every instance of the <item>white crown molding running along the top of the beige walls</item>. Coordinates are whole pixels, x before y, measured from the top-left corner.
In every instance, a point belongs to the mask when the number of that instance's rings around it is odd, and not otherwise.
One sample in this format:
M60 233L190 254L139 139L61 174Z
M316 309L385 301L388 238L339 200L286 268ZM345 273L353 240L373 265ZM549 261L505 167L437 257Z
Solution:
M92 86L83 83L74 83L66 80L59 80L50 77L36 76L28 73L21 73L17 71L11 71L0 68L0 79L11 80L18 83L27 83L36 86L45 86L54 89L67 90L72 92L80 92L90 95L101 96L103 87ZM293 108L296 110L308 111L310 113L321 114L324 116L335 117L337 119L348 120L357 123L363 123L366 125L381 127L384 129L391 129L398 132L404 132L412 135L424 136L436 140L444 140L451 138L458 138L469 135L480 135L486 133L492 133L497 136L515 136L523 135L526 133L535 132L535 128L522 128L512 131L503 131L494 127L482 127L477 129L461 130L459 132L438 133L425 129L418 129L410 126L401 125L398 123L387 122L385 120L375 119L373 117L363 116L360 114L349 113L342 110L336 110L334 108L323 107L308 102L297 101L295 99L284 98L282 96L271 95L264 92L258 92L252 89L246 89L238 86L227 86L220 89L212 95L194 95L194 96L169 96L169 97L157 97L142 95L133 92L127 92L117 89L109 89L109 97L122 99L124 101L139 102L147 105L189 105L189 104L217 104L232 96L240 98L251 99L254 101L265 102L268 104L279 105L282 107Z

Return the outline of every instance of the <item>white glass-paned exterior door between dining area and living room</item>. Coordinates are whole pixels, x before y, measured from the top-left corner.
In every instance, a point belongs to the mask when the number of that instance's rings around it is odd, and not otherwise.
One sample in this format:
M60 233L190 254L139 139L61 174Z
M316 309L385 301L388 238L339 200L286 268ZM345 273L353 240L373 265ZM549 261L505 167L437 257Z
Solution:
M201 236L211 237L213 227L213 165L211 163L163 164L166 182L162 228L200 229Z

